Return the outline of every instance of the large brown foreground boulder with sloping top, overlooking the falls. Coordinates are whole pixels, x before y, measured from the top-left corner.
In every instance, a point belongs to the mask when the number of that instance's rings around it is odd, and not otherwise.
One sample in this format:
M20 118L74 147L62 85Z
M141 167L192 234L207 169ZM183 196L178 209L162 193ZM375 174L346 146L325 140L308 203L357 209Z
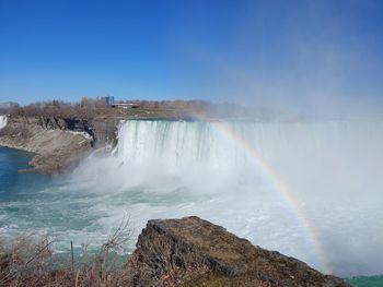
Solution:
M198 217L149 220L127 268L132 286L349 286Z

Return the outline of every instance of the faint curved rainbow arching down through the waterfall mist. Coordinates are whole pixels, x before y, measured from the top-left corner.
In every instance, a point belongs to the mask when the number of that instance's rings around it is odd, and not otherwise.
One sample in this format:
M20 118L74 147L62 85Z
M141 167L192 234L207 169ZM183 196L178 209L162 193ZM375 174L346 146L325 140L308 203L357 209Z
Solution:
M211 119L206 112L200 110L190 110L190 113L200 121L211 122ZM278 172L266 162L266 159L254 148L252 144L246 142L243 136L235 134L234 131L224 122L214 121L212 123L212 128L216 128L217 131L219 131L224 137L243 148L249 158L253 159L253 163L257 169L262 171L262 176L271 183L272 188L278 192L282 200L285 200L290 211L295 215L298 223L301 225L302 230L309 239L309 242L315 250L316 258L321 265L320 268L326 274L332 274L333 268L314 226L311 224L309 216L301 208L299 199L289 190L288 186L283 182Z

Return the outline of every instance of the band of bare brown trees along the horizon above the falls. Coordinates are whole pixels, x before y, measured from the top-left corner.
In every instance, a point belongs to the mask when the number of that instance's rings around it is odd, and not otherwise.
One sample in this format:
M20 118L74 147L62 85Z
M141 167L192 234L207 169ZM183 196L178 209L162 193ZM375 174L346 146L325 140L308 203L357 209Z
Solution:
M83 97L80 103L70 104L60 100L42 101L26 106L13 106L9 113L12 117L44 117L91 121L97 118L138 118L138 119L193 119L204 115L204 118L248 118L254 116L254 109L222 103L213 104L207 100L120 100L119 104L132 104L135 109L121 109L106 106L101 98ZM260 110L256 113L262 113Z

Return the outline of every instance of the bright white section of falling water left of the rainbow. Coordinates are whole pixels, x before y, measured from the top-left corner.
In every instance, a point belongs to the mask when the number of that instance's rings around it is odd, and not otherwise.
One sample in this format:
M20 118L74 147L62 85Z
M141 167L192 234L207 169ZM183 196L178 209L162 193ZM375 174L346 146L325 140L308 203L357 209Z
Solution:
M244 164L246 156L243 151L224 139L214 125L183 121L127 121L119 131L118 157L137 163L162 160L171 169L194 164L216 168ZM246 135L241 127L230 128L240 132L241 136Z

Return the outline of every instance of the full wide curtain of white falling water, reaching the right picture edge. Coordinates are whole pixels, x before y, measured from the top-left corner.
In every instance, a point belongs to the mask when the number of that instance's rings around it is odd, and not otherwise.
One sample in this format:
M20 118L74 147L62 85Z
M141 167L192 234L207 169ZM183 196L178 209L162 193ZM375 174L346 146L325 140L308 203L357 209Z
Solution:
M190 168L240 170L267 181L265 167L259 166L266 164L294 192L317 195L337 189L343 196L346 190L347 194L362 192L361 182L375 192L383 187L381 146L383 124L378 121L138 120L120 124L116 154L127 165L155 162L175 174Z

